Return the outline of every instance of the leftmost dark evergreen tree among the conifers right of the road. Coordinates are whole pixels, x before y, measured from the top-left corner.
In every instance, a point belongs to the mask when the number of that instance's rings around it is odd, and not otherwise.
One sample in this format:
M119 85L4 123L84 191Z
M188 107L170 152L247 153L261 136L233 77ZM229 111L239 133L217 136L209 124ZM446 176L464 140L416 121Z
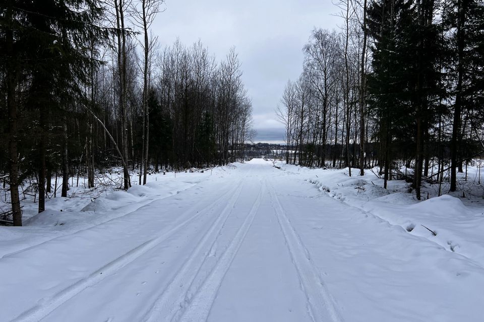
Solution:
M411 133L414 9L408 0L377 0L368 8L373 72L369 75L369 109L377 115L380 165L384 168L384 187L391 178L392 142L398 134ZM401 138L401 136L400 136Z

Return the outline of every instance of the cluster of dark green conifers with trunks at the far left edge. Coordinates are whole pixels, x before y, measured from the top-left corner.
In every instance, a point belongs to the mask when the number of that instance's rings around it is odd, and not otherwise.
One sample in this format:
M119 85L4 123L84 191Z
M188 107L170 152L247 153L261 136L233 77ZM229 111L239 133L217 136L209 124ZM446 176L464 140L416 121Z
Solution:
M91 0L12 0L0 5L5 13L0 33L2 48L7 50L2 50L1 63L3 84L7 85L8 161L16 225L21 224L18 185L33 173L37 176L39 212L45 209L46 178L58 160L54 140L62 132L58 130L63 128L62 115L72 109L74 100L83 99L84 71L97 64L85 54L84 44L108 35L99 26L104 12L99 4Z

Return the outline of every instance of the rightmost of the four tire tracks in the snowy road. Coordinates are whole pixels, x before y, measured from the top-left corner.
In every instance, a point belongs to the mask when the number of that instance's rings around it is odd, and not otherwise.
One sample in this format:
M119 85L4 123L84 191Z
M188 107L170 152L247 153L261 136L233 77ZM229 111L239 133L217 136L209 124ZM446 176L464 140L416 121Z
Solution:
M326 288L318 269L314 265L308 249L287 218L273 187L270 188L275 215L284 235L302 290L305 292L308 313L314 322L342 322L343 319L334 305L334 300Z

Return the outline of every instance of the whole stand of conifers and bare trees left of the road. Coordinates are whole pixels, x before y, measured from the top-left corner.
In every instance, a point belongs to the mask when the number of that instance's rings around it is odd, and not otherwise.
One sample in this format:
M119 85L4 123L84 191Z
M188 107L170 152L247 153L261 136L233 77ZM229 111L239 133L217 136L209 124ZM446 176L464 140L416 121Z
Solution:
M150 26L162 0L0 3L0 167L21 225L19 187L39 212L52 178L122 167L145 184L159 168L244 158L252 104L234 49L218 62L202 43L161 49Z

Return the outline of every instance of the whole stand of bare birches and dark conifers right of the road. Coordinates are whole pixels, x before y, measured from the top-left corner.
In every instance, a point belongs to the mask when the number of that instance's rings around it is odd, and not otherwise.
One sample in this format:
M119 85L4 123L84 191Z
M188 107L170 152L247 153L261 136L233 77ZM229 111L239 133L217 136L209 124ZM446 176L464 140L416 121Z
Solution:
M288 82L277 113L288 163L380 166L400 162L423 179L444 180L482 150L484 2L341 0L341 29L313 30L304 68ZM292 151L292 153L291 153Z

